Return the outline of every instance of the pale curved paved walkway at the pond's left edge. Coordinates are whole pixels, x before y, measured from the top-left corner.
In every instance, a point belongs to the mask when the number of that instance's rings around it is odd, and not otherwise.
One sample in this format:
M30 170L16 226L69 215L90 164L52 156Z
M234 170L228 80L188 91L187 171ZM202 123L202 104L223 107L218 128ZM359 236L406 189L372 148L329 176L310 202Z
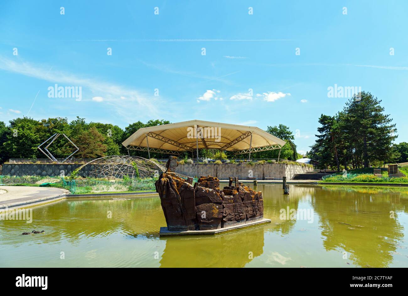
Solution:
M6 193L0 194L0 210L8 207L17 208L24 205L38 205L49 201L63 199L69 190L53 187L35 186L0 186Z

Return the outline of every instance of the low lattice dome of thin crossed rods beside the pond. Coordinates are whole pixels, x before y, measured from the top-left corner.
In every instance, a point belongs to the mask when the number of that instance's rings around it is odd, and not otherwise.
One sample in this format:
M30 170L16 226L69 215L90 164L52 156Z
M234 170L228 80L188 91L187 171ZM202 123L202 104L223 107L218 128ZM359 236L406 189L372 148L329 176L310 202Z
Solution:
M153 178L166 170L150 159L137 156L114 155L94 159L83 166L91 165L87 177L106 178L106 179L122 179L124 176L130 178ZM78 170L78 171L79 171Z

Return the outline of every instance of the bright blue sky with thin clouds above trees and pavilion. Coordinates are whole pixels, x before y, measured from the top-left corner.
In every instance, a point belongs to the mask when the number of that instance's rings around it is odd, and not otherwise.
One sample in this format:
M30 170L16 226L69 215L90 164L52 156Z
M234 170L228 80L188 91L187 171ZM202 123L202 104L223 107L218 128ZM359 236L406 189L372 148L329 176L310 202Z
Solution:
M285 124L306 152L347 100L328 97L337 84L382 99L408 141L407 14L402 0L1 1L0 120ZM81 100L50 98L55 84Z

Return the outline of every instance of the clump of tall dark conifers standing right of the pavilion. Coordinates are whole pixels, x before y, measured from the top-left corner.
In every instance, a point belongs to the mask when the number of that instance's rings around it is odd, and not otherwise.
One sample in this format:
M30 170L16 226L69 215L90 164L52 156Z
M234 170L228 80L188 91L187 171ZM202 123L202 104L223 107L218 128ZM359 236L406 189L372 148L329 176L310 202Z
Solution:
M381 100L361 92L334 116L319 117L316 143L307 153L321 168L368 168L398 161L401 157L395 124L384 113ZM401 143L402 144L402 143Z

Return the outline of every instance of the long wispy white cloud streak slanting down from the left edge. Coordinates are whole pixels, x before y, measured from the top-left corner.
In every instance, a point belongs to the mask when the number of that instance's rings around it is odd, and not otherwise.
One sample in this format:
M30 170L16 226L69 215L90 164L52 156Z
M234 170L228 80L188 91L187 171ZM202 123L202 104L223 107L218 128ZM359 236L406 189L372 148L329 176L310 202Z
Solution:
M144 110L143 115L146 119L165 117L163 110L159 110L159 106L164 103L158 97L140 93L140 91L126 86L109 84L91 78L82 78L62 71L49 71L49 67L33 65L28 62L16 62L3 56L0 56L0 70L49 81L52 85L58 82L67 86L82 86L83 89L86 88L92 94L102 96L109 108L112 108L127 122L135 121L134 114L129 110ZM126 100L121 97L126 97ZM84 100L81 102L84 102ZM75 102L75 104L81 103ZM175 107L171 106L171 108ZM171 111L169 110L166 113L171 114Z

